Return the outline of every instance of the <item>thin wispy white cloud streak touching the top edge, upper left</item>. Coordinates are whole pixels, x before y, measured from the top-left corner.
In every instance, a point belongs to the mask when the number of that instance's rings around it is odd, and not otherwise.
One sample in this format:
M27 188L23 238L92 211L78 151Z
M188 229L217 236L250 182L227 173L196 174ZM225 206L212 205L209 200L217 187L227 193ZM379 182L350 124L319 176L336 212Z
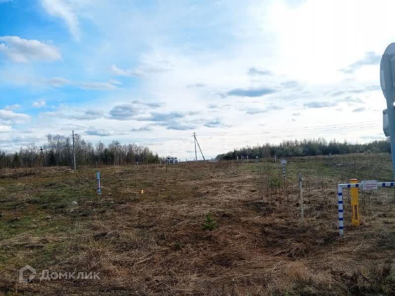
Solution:
M59 17L65 21L71 34L80 39L79 20L72 3L68 0L41 0L45 11L52 16Z

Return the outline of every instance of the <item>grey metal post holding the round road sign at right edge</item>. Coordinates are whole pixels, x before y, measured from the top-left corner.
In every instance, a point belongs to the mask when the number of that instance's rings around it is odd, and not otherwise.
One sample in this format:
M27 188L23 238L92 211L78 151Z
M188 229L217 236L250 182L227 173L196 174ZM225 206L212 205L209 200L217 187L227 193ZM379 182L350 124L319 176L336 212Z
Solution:
M383 54L382 65L384 71L384 84L386 88L388 125L390 127L391 156L393 174L395 180L395 110L394 110L394 88L391 71L390 55Z

